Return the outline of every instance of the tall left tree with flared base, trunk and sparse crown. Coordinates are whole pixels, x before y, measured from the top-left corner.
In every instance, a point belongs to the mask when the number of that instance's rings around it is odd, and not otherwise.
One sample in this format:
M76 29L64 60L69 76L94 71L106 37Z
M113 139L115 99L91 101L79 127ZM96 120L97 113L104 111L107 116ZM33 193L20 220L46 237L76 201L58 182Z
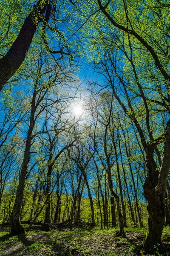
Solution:
M64 71L62 70L62 67L59 68L58 63L53 63L51 58L48 58L49 56L47 56L48 55L46 52L44 52L44 49L40 49L38 56L36 56L36 58L32 61L34 67L36 67L36 72L31 72L30 77L34 85L34 89L32 92L33 95L31 99L30 120L28 124L28 131L26 137L26 147L24 150L23 163L20 172L20 179L17 188L16 199L12 211L11 234L19 234L24 232L24 229L20 224L20 211L23 201L23 193L25 186L24 184L28 170L28 163L30 162L31 158L30 150L33 146L36 136L38 134L43 133L43 131L36 131L36 123L38 121L41 122L41 114L43 111L47 111L48 108L52 109L53 106L57 104L57 102L59 102L60 100L63 101L63 96L61 96L59 99L59 96L56 96L57 92L55 90L51 91L51 97L48 98L48 90L52 89L52 87L56 87L58 83L61 86L62 83L65 83L67 81L67 77L63 78ZM29 70L27 70L27 72L28 74L26 75L28 78L30 76ZM53 93L54 95L52 95Z

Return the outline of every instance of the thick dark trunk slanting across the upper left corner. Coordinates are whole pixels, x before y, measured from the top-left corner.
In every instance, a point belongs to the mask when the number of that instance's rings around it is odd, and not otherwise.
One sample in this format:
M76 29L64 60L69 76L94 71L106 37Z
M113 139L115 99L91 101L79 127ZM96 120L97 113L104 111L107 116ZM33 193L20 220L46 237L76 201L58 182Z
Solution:
M38 0L5 56L0 59L0 90L23 63L49 0ZM20 192L19 192L20 193ZM17 221L18 222L18 221ZM21 228L22 229L22 228Z

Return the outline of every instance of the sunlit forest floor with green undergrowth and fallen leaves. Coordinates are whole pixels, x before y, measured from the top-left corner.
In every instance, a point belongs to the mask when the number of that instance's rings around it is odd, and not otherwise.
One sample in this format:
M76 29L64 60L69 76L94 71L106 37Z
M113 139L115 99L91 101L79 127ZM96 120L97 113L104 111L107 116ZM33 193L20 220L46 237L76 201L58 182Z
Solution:
M116 236L116 229L72 231L40 230L10 236L10 227L0 227L0 256L139 256L146 229L126 228L127 239ZM164 227L162 241L170 255L170 226Z

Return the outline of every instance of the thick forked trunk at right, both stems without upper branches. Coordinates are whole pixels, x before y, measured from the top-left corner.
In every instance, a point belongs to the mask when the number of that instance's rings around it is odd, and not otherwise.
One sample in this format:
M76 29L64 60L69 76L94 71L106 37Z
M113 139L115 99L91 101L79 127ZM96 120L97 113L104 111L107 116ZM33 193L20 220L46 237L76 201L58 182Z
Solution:
M143 243L144 253L154 253L155 246L161 245L167 177L170 170L170 120L167 122L160 173L153 158L154 148L154 144L147 146L147 178L143 186L149 212L149 230Z

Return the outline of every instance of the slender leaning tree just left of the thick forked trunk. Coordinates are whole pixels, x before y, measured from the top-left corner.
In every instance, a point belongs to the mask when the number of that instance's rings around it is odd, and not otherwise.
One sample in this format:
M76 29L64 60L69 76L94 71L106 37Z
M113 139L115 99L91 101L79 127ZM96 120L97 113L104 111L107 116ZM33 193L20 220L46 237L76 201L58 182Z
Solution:
M101 108L100 111L98 111L99 116L99 122L104 127L104 154L106 158L106 166L104 164L104 161L101 160L103 167L105 167L106 173L108 175L108 186L111 193L111 209L114 208L114 202L113 198L116 200L116 206L117 206L117 213L119 218L119 235L125 236L124 233L124 227L126 224L126 216L125 216L125 205L123 201L123 195L122 195L122 183L120 180L120 172L119 172L119 163L118 163L118 155L116 151L116 140L114 138L114 131L112 129L111 122L113 122L113 95L111 96L108 91L105 91L104 93L101 93L101 101L99 102L99 108ZM112 148L114 151L112 151ZM115 157L115 160L113 160ZM101 157L102 158L102 157ZM119 189L120 189L120 196L121 196L121 202L122 202L122 209L124 211L122 216L122 210L120 206L120 200L119 195L114 191L113 189L113 180L112 180L112 168L114 164L116 163L117 173L118 173L118 181L119 181ZM112 209L113 214L113 209ZM114 214L113 214L114 216ZM124 217L124 218L123 218Z

